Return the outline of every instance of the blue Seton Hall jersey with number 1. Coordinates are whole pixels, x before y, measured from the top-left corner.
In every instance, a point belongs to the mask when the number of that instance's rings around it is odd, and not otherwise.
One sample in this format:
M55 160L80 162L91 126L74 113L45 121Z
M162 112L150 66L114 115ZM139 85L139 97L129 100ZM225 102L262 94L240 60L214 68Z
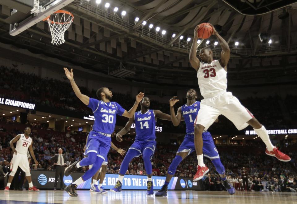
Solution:
M200 109L200 101L196 101L192 105L183 105L181 112L186 123L186 133L194 135L194 121Z

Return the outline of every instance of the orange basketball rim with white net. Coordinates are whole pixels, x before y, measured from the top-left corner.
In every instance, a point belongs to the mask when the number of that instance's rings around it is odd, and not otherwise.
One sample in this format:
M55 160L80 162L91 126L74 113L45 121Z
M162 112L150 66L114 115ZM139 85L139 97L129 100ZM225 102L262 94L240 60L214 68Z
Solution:
M52 44L61 45L65 42L64 33L73 22L74 16L68 11L58 10L45 18L49 23L50 33L52 35Z

